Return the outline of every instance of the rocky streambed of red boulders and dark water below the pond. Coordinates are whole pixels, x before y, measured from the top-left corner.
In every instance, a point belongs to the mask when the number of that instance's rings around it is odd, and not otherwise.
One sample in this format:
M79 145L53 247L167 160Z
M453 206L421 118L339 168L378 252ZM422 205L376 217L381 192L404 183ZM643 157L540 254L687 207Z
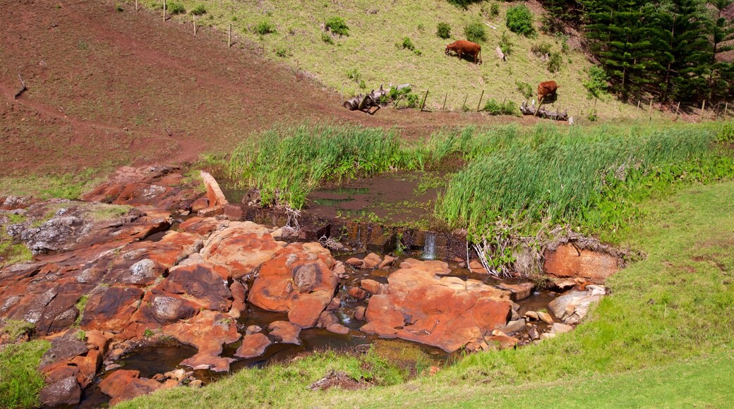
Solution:
M292 229L232 220L216 186L204 194L169 167L120 169L84 199L0 200L4 229L34 252L0 270L0 318L51 340L48 406L114 405L383 339L437 362L517 347L570 331L605 294L591 279L538 290L420 253L335 256Z

